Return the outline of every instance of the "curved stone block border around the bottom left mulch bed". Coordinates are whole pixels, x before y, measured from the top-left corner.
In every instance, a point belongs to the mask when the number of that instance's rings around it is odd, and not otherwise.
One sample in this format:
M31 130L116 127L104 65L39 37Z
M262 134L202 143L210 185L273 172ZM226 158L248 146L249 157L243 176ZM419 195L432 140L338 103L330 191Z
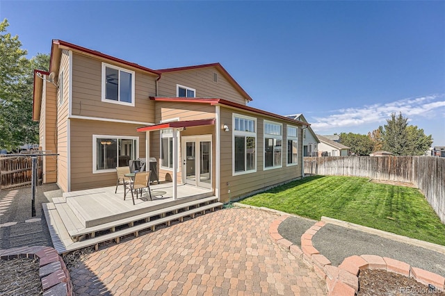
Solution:
M73 295L70 272L63 258L52 247L17 247L0 249L0 259L15 258L39 259L39 276L42 281L43 295Z

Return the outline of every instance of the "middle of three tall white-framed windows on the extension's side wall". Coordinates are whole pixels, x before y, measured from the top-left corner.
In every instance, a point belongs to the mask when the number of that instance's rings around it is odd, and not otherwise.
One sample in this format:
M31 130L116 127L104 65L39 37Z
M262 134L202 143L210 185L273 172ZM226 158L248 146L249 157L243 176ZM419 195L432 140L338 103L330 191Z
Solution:
M282 124L264 120L264 168L282 167Z

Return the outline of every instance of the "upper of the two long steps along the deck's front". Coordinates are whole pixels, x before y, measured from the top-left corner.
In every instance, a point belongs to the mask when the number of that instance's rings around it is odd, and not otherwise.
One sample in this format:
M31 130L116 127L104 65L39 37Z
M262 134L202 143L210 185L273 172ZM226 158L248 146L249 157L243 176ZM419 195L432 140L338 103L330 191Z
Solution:
M191 202L185 202L182 204L177 204L175 206L169 206L167 208L160 208L159 210L156 211L150 211L147 213L143 213L140 215L135 215L132 217L127 217L121 220L116 220L113 222L108 222L108 223L104 223L104 224L100 224L97 225L95 227L83 227L83 229L76 229L73 231L68 230L68 232L70 233L70 236L72 236L72 238L74 240L76 240L76 237L79 236L83 236L86 234L90 234L90 233L95 233L97 231L104 231L104 230L108 230L108 229L112 229L115 227L121 227L123 225L129 224L131 222L136 222L139 220L143 220L143 219L149 219L151 217L155 217L158 215L163 215L165 213L171 213L171 212L175 212L175 211L179 211L182 210L184 208L189 208L191 206L199 206L200 204L207 204L207 203L211 203L211 202L215 202L218 198L215 196L212 197L207 197L204 199L197 199Z

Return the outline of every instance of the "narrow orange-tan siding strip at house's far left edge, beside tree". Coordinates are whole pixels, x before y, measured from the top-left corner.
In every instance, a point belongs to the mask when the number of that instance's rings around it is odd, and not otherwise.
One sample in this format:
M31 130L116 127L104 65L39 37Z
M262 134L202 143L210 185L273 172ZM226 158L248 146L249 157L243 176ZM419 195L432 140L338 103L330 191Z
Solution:
M57 90L52 83L46 83L42 93L42 104L40 108L39 138L40 147L45 151L56 153L56 99ZM43 157L43 183L54 183L57 181L57 158L56 156Z

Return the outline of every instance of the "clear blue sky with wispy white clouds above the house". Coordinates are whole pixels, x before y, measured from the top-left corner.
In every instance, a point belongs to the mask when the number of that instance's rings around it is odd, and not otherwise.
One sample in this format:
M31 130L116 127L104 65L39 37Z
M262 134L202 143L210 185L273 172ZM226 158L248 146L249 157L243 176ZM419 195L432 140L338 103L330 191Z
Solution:
M29 56L52 39L152 69L221 63L250 106L321 135L402 112L445 146L444 1L3 1Z

